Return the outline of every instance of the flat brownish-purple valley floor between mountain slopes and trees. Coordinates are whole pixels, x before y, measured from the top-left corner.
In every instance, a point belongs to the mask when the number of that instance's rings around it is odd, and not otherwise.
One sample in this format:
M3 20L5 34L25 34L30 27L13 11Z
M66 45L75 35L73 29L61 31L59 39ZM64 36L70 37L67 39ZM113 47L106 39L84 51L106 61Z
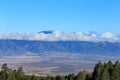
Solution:
M24 53L19 56L0 57L0 66L7 63L11 68L23 66L26 74L37 75L58 75L78 73L86 70L92 72L94 65L98 60L107 62L116 61L120 56L103 56L78 53Z

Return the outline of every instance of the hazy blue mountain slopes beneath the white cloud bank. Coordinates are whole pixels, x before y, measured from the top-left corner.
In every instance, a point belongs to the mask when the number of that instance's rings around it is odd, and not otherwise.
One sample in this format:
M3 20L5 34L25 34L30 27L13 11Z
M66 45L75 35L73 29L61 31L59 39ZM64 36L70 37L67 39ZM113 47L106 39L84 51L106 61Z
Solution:
M0 55L20 55L26 52L36 53L81 53L120 55L119 42L90 41L36 41L36 40L0 40Z

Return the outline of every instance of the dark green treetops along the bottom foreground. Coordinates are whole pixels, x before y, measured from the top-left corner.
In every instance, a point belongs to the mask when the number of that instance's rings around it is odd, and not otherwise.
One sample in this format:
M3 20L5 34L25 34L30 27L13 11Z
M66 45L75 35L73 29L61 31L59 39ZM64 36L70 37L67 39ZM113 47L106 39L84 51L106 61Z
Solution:
M35 76L26 75L22 66L17 70L8 68L7 64L3 64L0 71L0 80L120 80L120 63L116 61L114 64L109 61L95 65L92 73L80 71L78 74L57 75L57 76Z

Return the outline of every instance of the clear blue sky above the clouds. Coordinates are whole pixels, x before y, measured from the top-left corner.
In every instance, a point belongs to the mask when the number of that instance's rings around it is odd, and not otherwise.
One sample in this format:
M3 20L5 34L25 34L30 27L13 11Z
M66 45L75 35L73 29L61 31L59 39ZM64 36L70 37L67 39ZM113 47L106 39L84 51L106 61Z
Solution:
M0 0L0 32L120 34L120 0Z

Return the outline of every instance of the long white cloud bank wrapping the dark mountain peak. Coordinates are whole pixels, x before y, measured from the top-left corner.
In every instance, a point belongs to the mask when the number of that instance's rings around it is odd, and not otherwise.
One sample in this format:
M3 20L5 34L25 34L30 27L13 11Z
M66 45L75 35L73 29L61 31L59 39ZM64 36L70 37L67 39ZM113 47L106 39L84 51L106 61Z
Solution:
M95 32L62 32L41 31L38 33L0 33L0 39L42 40L42 41L120 41L119 35L110 32L97 34Z

